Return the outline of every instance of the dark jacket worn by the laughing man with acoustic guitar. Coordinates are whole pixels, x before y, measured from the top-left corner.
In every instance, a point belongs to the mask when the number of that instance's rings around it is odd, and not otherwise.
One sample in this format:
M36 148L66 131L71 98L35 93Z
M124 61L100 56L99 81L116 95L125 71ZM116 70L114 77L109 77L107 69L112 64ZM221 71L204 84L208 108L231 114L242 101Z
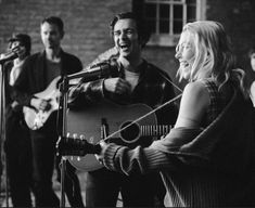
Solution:
M115 94L103 89L104 79L84 83L74 87L69 91L69 101L73 106L84 106L93 104L103 99L107 99L118 104L143 103L152 108L156 108L165 102L175 98L175 90L169 76L153 64L145 61L139 66L141 76L137 87L130 94ZM116 75L115 75L116 76ZM118 77L124 77L124 72L119 68ZM164 114L158 110L161 123L174 125L177 118L178 108L176 102L171 102L164 108Z

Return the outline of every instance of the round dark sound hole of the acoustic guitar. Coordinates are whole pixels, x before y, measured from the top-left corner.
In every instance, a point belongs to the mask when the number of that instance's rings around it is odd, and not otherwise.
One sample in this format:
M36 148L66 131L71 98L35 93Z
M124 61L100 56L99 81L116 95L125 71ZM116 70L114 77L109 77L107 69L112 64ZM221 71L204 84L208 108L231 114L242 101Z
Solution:
M122 129L130 125L131 121L125 122L122 126ZM126 142L133 142L133 140L137 140L140 133L140 128L137 123L130 125L130 127L124 129L120 131L120 136Z

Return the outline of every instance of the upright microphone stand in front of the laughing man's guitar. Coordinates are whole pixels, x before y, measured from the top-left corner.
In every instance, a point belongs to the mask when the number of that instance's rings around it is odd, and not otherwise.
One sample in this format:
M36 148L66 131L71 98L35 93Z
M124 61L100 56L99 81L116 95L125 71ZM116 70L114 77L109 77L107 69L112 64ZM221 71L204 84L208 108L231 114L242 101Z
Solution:
M63 80L60 84L60 107L59 107L59 116L61 116L60 120L61 130L59 131L59 140L56 142L56 150L58 145L61 140L65 140L66 135L66 114L67 114L67 92L68 92L68 79L66 76L63 76ZM59 127L58 127L59 129ZM59 153L58 153L59 154ZM60 207L65 208L65 171L66 171L66 157L61 155L61 200Z

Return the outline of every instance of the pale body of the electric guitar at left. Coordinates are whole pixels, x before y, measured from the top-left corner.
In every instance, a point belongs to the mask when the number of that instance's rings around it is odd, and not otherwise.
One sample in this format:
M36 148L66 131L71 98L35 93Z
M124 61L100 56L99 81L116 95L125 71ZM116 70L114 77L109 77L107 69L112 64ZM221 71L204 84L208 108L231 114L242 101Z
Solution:
M47 112L43 110L36 110L30 107L23 107L24 118L26 121L26 125L31 130L38 130L40 129L47 119L50 117L51 113L56 110L59 108L59 102L58 98L60 95L60 91L58 90L58 81L60 80L60 77L56 77L51 81L51 83L48 86L48 88L39 93L36 93L35 96L48 100L51 108Z

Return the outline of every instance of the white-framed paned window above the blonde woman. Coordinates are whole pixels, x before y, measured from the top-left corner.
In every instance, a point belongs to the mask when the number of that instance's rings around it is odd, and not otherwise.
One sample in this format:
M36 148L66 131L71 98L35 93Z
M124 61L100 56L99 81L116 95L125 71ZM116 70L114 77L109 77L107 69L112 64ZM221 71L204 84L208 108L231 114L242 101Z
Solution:
M175 46L186 23L202 20L202 8L204 8L202 3L204 1L142 0L140 4L137 3L136 5L140 6L143 18L152 29L152 37L148 44Z

